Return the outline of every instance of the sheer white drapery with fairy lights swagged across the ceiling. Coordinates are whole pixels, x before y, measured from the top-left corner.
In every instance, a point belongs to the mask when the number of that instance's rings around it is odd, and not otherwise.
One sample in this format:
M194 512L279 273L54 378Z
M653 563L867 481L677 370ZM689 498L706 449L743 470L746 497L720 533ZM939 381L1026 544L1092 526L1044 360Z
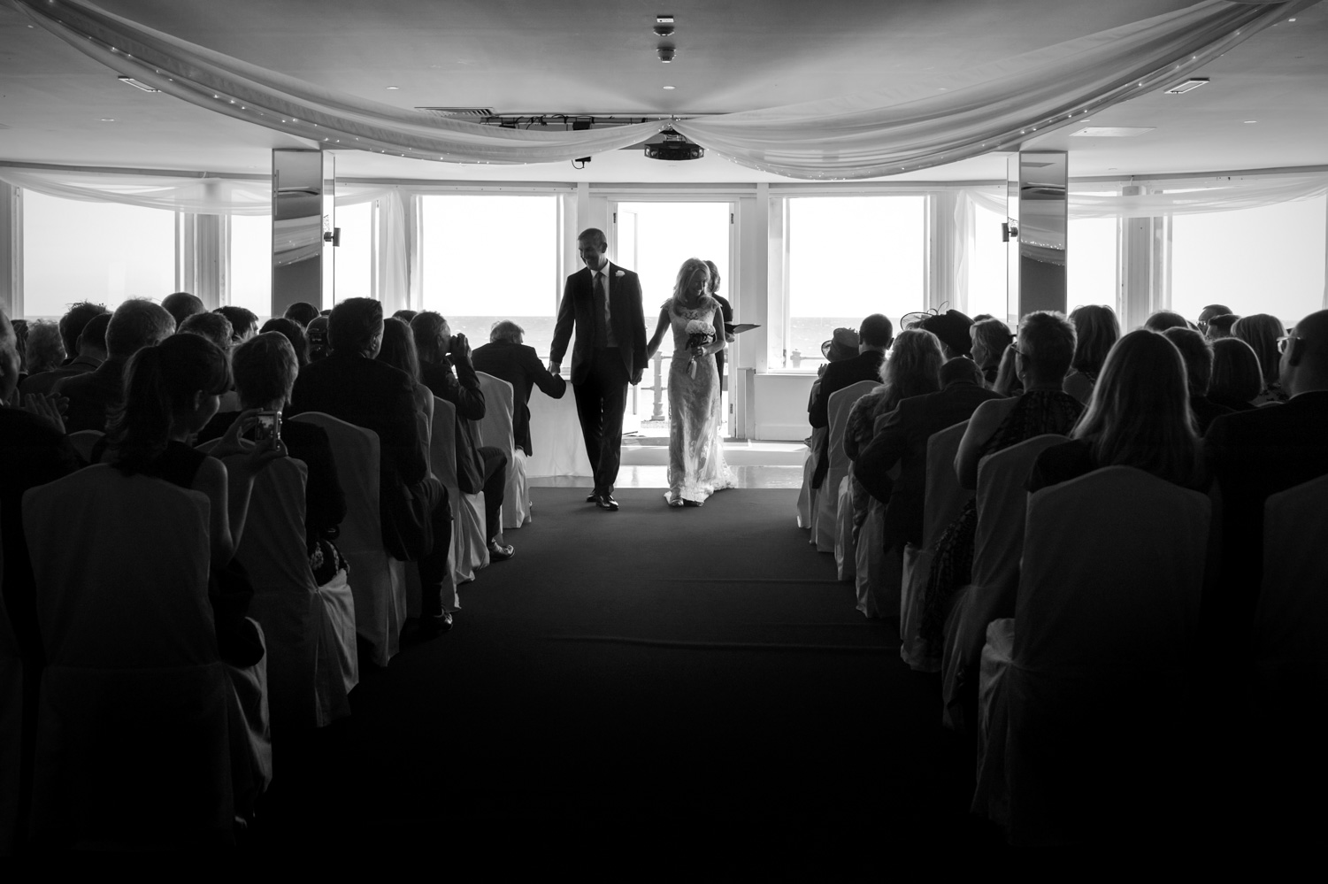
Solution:
M628 147L668 123L513 130L438 118L324 89L105 12L85 0L7 0L124 76L327 149L454 163L547 163ZM927 90L878 89L673 127L733 162L801 179L861 179L1020 143L1170 86L1317 0L1203 0L1015 56Z

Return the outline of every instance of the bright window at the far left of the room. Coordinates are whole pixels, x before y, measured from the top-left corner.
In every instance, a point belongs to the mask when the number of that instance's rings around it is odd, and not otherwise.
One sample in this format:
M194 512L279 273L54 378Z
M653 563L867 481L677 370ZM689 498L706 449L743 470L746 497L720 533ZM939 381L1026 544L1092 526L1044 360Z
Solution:
M23 191L23 313L175 291L175 212Z

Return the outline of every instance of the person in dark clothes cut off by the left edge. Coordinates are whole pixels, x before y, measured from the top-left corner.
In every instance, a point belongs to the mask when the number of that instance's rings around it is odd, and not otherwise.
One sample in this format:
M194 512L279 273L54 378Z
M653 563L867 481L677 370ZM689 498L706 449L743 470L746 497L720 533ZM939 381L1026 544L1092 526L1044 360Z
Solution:
M64 433L60 410L44 396L24 397L25 407L8 406L19 384L17 336L0 309L0 588L19 642L19 654L40 672L41 634L37 629L36 584L23 532L23 495L54 482L81 463Z

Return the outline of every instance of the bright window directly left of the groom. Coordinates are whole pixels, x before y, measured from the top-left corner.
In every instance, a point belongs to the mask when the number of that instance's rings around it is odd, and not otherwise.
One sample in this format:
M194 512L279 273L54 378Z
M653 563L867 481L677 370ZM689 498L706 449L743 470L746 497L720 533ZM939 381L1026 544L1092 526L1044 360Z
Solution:
M558 198L420 199L425 309L446 316L471 346L487 344L498 320L513 320L526 329L526 344L547 356L562 295Z

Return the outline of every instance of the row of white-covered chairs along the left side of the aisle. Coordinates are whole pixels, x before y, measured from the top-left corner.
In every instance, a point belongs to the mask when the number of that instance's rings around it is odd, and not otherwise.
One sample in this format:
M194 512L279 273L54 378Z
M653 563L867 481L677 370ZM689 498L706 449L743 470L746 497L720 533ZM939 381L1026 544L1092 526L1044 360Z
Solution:
M523 454L513 451L511 385L481 374L481 389L489 406L481 438L509 454L505 527L518 527L530 520L530 503ZM420 430L452 500L444 601L457 609L457 584L489 564L485 503L457 487L454 406L433 406ZM377 434L321 413L292 419L323 427L336 453L349 579L315 584L304 547L307 466L293 458L268 465L255 479L236 550L266 649L248 669L216 652L206 496L104 465L25 496L48 654L31 826L37 838L72 836L93 849L227 842L235 815L251 811L271 780L272 730L280 738L351 713L356 634L378 665L398 650L414 568L382 547ZM84 431L70 441L88 459L100 437ZM88 553L68 555L69 536L92 539ZM0 605L0 855L20 839L25 676L15 649Z

